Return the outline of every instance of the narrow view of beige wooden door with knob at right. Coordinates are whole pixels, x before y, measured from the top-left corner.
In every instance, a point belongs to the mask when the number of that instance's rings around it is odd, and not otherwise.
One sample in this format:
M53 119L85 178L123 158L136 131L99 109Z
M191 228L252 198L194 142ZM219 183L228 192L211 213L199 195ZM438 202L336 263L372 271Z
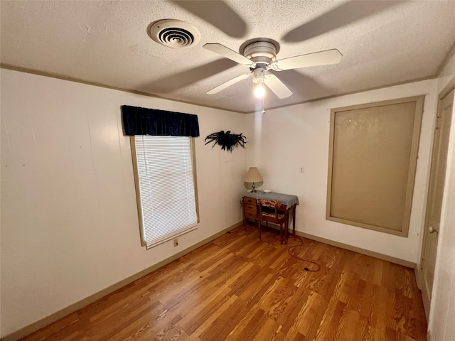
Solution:
M422 284L425 313L429 316L429 302L432 298L434 266L438 247L439 222L441 221L442 197L446 177L446 161L449 134L454 107L454 89L439 99L437 126L434 134L432 164L430 169L427 214L425 215L422 260L419 271Z

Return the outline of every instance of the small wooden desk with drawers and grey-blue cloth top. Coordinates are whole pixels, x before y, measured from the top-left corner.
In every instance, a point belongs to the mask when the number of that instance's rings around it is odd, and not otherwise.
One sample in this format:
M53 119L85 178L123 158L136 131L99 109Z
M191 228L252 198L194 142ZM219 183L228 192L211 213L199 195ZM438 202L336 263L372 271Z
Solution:
M243 198L243 226L247 226L247 218L257 220L257 227L260 228L259 208L257 207L257 199L271 199L278 200L282 203L279 207L280 211L285 215L285 242L287 244L288 229L289 229L289 213L292 211L292 235L296 234L296 205L299 205L299 198L296 195L282 194L282 193L264 193L258 190L255 193L247 193L242 196Z

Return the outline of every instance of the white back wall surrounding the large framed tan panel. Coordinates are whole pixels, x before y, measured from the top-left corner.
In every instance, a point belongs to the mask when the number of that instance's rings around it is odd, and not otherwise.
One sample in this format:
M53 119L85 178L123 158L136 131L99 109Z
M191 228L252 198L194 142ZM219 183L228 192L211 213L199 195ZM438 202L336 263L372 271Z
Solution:
M436 103L437 80L397 85L379 90L249 114L255 148L249 161L264 177L261 189L299 196L296 229L361 249L417 263L427 192L429 153ZM426 95L419 159L414 184L409 237L375 232L326 220L330 110L386 99ZM251 146L250 146L251 147ZM299 168L304 167L304 173Z

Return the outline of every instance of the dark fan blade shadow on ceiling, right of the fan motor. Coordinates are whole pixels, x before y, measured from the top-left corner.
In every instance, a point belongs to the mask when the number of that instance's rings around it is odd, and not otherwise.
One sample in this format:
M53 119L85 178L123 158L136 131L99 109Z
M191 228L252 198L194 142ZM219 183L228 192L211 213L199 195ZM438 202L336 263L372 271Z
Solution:
M284 35L282 40L287 43L297 43L317 37L328 31L359 21L396 6L402 1L356 1L351 0L340 6L323 13L321 16L294 28Z

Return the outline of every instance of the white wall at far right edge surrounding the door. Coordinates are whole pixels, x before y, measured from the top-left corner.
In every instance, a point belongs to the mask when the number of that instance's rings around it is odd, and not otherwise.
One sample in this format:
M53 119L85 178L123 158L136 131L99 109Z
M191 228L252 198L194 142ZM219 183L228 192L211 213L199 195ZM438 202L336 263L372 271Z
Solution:
M455 77L452 55L438 79L438 94ZM452 114L446 183L428 330L432 340L455 340L455 112Z

